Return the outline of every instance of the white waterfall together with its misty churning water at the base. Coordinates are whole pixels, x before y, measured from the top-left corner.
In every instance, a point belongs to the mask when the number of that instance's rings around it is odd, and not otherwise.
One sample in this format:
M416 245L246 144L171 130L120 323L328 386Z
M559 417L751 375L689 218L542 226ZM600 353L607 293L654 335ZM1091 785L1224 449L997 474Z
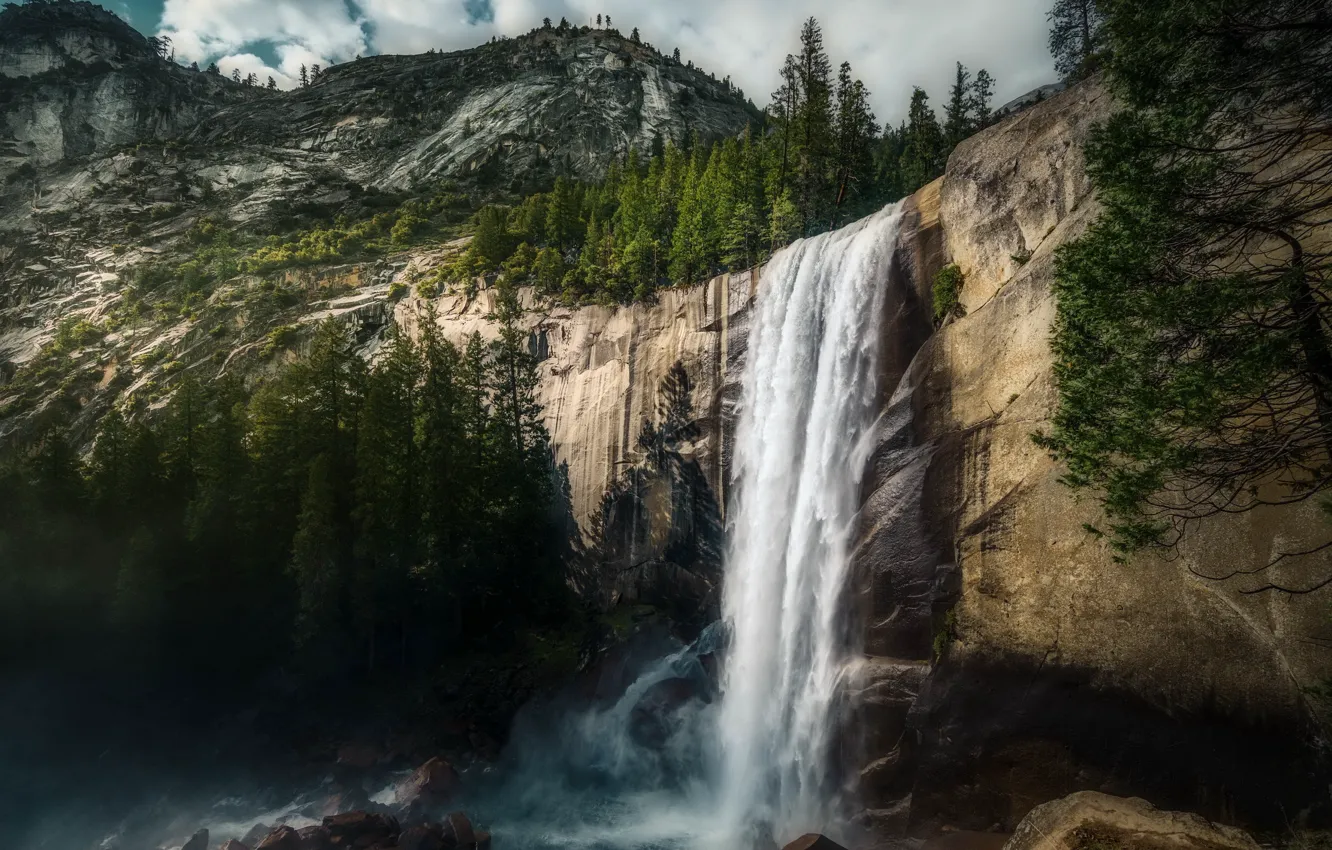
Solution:
M899 221L891 207L765 269L735 434L726 628L646 665L609 706L543 707L515 727L502 771L466 774L458 805L501 850L745 850L836 834L831 713L855 650L842 601ZM719 702L703 663L715 654ZM663 726L645 741L635 717L663 683L695 698L649 710ZM393 785L377 802L396 801ZM325 790L277 809L226 798L192 823L240 837L260 821L314 823L325 802Z

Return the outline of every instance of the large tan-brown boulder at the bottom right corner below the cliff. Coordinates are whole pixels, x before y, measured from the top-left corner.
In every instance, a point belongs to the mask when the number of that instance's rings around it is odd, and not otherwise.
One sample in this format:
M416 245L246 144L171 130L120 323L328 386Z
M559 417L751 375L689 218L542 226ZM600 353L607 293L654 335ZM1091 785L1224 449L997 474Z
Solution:
M1032 809L1004 850L1257 850L1257 843L1196 814L1079 791Z

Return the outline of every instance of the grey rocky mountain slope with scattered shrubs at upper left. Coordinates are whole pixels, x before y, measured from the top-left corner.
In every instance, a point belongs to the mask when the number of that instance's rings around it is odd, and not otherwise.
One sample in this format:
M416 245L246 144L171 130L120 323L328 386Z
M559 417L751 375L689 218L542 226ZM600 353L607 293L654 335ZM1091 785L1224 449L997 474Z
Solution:
M396 280L397 296L449 254L445 232L394 240L370 264L336 249L238 262L269 237L380 216L388 245L388 228L422 207L457 230L482 201L758 117L729 84L614 31L376 56L280 92L178 67L88 3L8 7L0 437L51 421L87 434L123 393L170 392L177 370L262 370L276 330L349 309L337 296L376 301L370 281ZM385 292L370 313L385 314ZM298 346L298 333L284 338Z

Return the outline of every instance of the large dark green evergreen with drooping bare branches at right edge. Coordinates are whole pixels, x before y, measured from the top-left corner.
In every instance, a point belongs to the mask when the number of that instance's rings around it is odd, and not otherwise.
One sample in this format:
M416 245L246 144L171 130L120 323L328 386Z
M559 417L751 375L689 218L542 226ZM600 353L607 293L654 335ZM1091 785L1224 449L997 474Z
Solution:
M1128 553L1332 486L1332 16L1099 7L1126 108L1087 145L1104 212L1058 256L1059 410L1040 440Z

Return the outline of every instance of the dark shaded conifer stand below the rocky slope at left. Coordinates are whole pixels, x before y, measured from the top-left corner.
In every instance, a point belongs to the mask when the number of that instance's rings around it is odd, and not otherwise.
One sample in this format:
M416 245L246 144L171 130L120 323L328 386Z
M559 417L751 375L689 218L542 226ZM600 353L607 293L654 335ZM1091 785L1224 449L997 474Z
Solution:
M0 472L4 650L400 667L559 625L567 524L511 289L500 337L422 316L373 366L345 325L248 392L185 378ZM294 653L294 655L293 655Z

